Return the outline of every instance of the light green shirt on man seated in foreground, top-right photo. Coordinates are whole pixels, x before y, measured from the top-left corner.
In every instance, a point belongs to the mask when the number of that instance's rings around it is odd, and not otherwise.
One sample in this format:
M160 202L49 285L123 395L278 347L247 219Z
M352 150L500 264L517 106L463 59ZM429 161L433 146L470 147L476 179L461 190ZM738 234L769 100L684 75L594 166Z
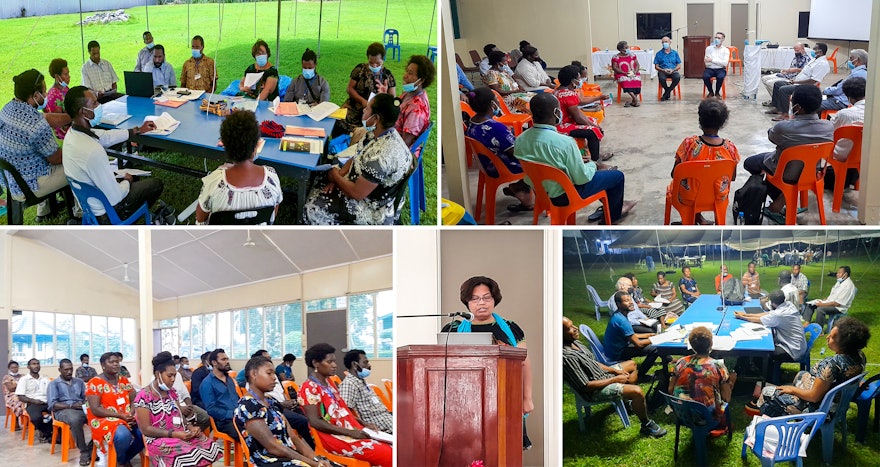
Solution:
M586 185L596 173L596 164L584 163L574 139L558 133L553 125L536 123L534 127L524 131L516 139L513 154L520 160L547 164L562 170L575 186ZM529 177L525 180L534 186ZM550 198L565 193L556 182L545 180L543 185Z

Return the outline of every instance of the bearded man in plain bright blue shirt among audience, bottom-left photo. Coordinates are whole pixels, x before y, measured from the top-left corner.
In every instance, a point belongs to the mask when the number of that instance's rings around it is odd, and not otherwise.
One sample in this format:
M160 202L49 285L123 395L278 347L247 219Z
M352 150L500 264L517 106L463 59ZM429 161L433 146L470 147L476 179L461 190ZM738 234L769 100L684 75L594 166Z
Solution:
M238 433L232 425L232 415L238 406L238 391L235 381L229 377L229 357L223 349L214 349L208 357L213 370L199 386L202 408L214 419L217 429L232 439L238 439Z

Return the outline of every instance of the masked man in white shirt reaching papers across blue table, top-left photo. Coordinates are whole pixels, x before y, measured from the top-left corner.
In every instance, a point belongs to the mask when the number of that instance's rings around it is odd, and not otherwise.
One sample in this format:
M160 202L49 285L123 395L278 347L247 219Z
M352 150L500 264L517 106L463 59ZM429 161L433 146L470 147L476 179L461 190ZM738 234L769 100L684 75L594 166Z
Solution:
M126 219L144 202L152 206L159 199L162 180L148 177L135 181L126 174L122 181L117 182L113 169L107 164L107 152L102 144L121 143L134 135L154 130L156 125L144 122L142 126L130 130L93 130L92 127L98 124L103 113L100 108L95 93L83 86L76 86L67 92L64 109L73 120L73 125L67 132L62 149L64 174L101 190L119 218ZM100 201L89 199L88 202L100 223L110 222Z

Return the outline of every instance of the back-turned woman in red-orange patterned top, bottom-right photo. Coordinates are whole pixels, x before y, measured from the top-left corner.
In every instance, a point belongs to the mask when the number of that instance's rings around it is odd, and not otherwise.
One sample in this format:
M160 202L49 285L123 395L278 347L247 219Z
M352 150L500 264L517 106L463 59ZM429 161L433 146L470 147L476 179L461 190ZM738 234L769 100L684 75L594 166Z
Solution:
M736 373L727 371L724 360L709 357L712 332L706 327L695 327L688 335L688 342L694 349L694 355L687 355L675 362L672 378L669 379L669 394L709 407L715 420L723 422Z

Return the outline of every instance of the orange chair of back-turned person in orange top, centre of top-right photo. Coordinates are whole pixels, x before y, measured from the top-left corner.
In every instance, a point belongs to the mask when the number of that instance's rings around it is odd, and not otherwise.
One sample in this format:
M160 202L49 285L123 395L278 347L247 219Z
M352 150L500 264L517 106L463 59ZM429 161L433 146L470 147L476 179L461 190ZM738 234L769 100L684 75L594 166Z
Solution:
M715 189L715 181L727 176L733 180L736 171L736 161L711 160L689 161L675 166L672 173L672 190L666 194L666 212L663 224L669 225L672 208L681 215L682 225L694 225L699 212L713 211L715 223L724 225L727 217L727 203L730 197L720 200ZM681 181L688 179L691 191L695 194L694 204L688 206L678 200L678 192Z

